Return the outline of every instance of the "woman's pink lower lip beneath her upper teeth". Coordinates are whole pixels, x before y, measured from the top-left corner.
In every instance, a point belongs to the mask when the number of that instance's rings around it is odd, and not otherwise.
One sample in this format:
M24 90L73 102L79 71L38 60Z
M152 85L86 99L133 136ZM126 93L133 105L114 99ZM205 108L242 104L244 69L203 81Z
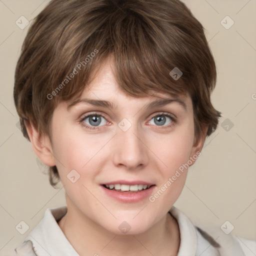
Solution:
M138 192L137 191L118 192L115 190L107 189L103 185L101 185L101 187L107 195L113 197L116 200L119 200L122 202L138 202L138 201L141 201L141 200L147 198L152 193L154 185L152 185L149 188L144 189L144 190L138 190Z

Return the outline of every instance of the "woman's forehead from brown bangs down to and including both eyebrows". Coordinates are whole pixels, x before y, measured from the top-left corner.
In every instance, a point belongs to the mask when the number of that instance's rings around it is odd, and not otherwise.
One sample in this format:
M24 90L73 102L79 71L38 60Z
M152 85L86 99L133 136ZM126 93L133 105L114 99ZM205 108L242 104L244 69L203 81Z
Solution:
M67 110L80 104L106 108L123 108L144 106L145 108L157 108L169 103L176 103L185 111L192 108L192 101L188 93L173 94L166 93L155 88L143 95L128 94L115 79L114 60L107 57L101 62L97 69L90 74L90 82L86 84L79 97L72 98L67 103Z

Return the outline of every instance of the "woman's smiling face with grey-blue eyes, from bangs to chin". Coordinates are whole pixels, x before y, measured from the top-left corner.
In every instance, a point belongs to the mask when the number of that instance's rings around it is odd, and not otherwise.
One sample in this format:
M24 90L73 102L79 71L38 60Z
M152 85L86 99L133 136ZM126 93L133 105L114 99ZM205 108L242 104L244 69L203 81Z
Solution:
M107 61L80 100L61 102L52 116L51 150L70 211L114 233L156 224L198 156L193 127L190 97L129 96Z

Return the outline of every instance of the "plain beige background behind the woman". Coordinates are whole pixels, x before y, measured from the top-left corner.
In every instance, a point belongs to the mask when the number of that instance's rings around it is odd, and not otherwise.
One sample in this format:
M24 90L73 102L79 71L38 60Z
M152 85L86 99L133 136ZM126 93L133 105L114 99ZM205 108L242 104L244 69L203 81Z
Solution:
M1 255L23 241L46 208L65 204L63 189L49 185L30 142L17 128L12 98L14 68L28 27L20 29L15 21L21 15L31 20L47 2L0 0ZM222 112L220 124L228 118L234 125L226 131L219 124L206 140L174 205L201 227L220 228L228 220L232 234L256 239L256 1L184 2L205 27L216 60L212 101ZM234 21L229 29L220 23L226 15ZM23 235L15 229L21 220L29 226Z

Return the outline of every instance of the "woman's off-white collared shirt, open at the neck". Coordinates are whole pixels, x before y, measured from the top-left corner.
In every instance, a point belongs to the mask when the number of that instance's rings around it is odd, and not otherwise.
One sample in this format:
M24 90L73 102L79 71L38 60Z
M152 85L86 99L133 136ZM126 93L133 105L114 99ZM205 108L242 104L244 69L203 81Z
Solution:
M30 231L13 256L79 256L65 237L57 221L67 212L66 205L47 208L42 220ZM177 256L255 256L256 241L217 230L209 234L193 225L179 209L172 206L180 232Z

